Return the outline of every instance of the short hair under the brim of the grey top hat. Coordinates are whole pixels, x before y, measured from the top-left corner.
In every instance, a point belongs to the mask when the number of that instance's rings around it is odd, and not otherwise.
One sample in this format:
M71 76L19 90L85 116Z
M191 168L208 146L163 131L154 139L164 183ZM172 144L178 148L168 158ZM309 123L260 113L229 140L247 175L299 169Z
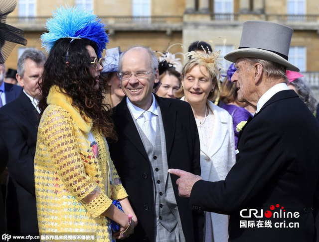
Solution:
M263 67L263 71L265 73L265 75L269 78L269 79L283 79L285 80L285 83L288 83L288 78L286 76L286 68L280 64L277 64L275 62L272 61L266 61L266 60L262 60L262 59L257 59L257 58L241 58L243 60L247 60L250 63L259 63L262 65Z

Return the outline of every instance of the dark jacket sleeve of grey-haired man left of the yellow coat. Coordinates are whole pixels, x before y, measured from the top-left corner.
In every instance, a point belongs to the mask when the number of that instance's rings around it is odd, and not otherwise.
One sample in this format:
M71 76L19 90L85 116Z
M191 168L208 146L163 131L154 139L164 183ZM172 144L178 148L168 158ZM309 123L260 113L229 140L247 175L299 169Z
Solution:
M34 158L26 143L23 130L3 109L0 109L0 124L0 136L5 141L8 150L9 173L16 182L35 196Z

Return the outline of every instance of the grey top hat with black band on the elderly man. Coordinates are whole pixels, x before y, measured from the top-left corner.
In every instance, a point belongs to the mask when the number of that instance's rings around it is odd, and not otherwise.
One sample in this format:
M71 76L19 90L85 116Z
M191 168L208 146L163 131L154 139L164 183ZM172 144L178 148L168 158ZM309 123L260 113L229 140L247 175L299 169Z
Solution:
M288 26L265 22L247 21L238 50L225 55L225 59L236 62L238 58L258 58L278 63L287 70L299 72L299 68L288 62L291 37L294 30Z

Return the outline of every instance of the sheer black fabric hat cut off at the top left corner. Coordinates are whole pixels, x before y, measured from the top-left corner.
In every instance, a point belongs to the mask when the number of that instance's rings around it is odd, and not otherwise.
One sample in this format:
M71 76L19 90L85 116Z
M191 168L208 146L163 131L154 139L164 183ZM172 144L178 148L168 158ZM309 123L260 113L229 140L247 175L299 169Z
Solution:
M21 29L6 24L7 15L16 7L16 0L0 0L0 64L3 64L16 44L26 45Z

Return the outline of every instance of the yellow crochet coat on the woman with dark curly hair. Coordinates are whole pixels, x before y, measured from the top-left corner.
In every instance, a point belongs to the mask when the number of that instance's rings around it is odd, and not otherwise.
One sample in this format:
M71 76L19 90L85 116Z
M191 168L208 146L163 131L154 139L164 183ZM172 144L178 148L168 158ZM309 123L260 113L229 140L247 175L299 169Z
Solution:
M52 86L49 91L34 158L40 239L54 241L45 235L61 235L56 233L96 233L98 242L110 242L110 220L101 214L112 199L128 195L105 138L57 89ZM94 146L88 140L90 132Z

